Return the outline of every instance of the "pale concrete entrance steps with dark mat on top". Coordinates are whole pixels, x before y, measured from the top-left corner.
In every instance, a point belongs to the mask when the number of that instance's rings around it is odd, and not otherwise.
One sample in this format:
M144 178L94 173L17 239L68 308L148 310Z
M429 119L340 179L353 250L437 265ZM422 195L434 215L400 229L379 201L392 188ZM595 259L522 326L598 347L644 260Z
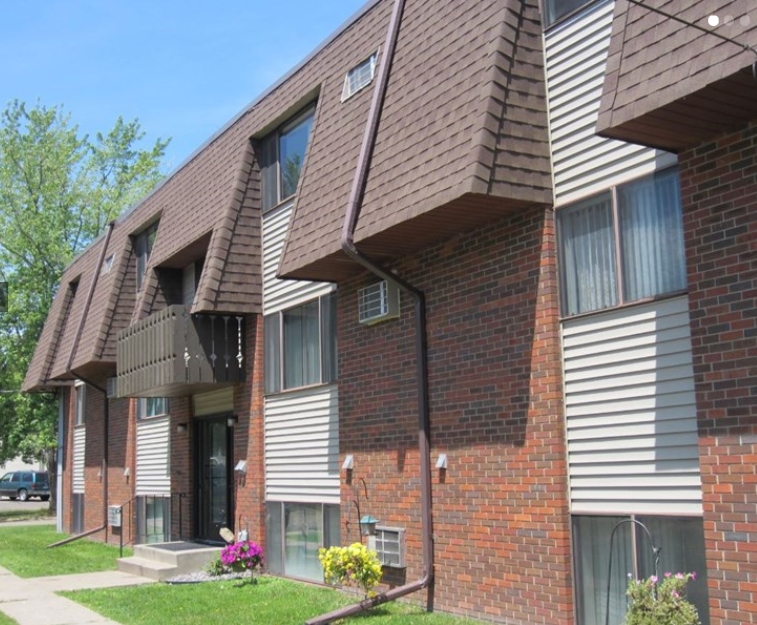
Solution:
M118 560L118 570L163 581L204 569L221 551L188 542L135 545L134 554Z

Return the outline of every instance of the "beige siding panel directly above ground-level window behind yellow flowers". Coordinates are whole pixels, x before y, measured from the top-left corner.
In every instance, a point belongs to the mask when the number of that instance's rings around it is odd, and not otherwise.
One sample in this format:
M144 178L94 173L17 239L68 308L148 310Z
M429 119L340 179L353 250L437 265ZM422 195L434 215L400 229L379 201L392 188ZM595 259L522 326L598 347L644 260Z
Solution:
M267 397L266 499L339 503L336 386Z

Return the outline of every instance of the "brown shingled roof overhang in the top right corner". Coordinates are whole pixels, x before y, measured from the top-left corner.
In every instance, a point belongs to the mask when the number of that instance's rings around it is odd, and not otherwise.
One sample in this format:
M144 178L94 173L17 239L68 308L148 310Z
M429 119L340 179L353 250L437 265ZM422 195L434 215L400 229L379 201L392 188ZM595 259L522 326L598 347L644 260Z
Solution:
M754 1L645 4L733 42L618 0L597 132L679 151L755 119L757 52L744 49L757 47ZM715 28L708 24L713 10L721 20Z

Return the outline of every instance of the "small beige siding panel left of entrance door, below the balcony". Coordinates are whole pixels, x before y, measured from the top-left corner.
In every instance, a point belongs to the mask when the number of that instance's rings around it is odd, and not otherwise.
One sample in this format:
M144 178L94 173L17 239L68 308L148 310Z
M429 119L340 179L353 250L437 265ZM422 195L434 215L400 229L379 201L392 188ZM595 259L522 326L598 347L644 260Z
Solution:
M137 495L170 495L170 418L137 421Z

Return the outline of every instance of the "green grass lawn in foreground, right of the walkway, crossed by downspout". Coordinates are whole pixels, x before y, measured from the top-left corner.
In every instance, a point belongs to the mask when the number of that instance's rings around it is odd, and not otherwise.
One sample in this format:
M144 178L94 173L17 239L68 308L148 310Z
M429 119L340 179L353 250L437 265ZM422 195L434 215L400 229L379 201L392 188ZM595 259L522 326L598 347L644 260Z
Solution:
M124 625L302 625L355 599L331 588L260 577L254 585L235 582L150 584L62 593ZM345 625L475 625L478 621L427 614L404 604L384 604Z

